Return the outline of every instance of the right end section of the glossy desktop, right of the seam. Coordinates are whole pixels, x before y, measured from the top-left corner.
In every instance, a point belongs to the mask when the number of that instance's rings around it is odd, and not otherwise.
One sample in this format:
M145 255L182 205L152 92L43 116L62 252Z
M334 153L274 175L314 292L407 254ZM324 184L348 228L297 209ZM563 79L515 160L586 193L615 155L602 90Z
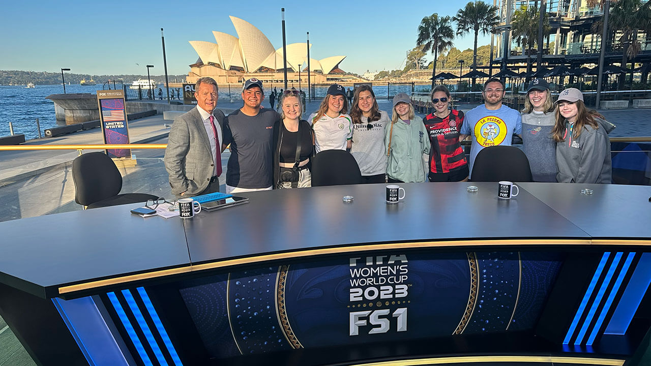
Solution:
M522 183L521 186L593 239L648 240L651 237L651 186L558 183ZM583 195L583 188L590 188L594 193Z

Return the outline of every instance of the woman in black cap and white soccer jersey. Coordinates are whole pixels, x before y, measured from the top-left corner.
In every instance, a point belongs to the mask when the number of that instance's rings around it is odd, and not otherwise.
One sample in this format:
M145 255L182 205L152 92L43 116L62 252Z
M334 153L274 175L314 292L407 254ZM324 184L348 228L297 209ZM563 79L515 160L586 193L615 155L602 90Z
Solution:
M330 85L318 111L308 119L314 129L314 147L317 153L322 150L350 149L353 123L346 113L346 89L339 84Z

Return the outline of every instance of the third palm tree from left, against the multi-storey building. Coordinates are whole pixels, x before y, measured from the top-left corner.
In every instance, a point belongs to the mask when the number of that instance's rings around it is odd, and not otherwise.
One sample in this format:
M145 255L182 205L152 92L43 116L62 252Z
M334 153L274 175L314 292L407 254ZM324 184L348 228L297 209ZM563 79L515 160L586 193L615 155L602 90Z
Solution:
M523 5L514 12L511 20L511 32L518 45L522 48L522 55L525 54L525 49L529 49L529 52L527 52L527 74L531 72L531 49L538 40L539 19L540 11L537 8ZM542 27L543 35L547 35L551 30L547 13L545 13Z

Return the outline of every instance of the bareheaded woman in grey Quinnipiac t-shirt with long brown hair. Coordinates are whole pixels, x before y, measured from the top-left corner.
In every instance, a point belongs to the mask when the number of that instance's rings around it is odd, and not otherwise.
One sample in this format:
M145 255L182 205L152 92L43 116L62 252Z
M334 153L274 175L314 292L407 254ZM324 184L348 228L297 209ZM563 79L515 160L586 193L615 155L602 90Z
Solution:
M363 84L355 89L350 117L355 130L350 153L357 160L362 173L362 183L386 182L384 130L390 121L387 112L380 111L370 85Z

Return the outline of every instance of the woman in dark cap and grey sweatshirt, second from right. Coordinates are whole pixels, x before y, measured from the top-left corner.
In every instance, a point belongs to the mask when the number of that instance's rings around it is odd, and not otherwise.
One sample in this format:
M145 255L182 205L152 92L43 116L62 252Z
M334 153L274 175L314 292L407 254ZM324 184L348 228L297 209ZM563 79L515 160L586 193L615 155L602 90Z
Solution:
M544 79L529 83L522 110L522 150L529 159L534 182L556 182L556 141L551 130L556 123L554 103Z

